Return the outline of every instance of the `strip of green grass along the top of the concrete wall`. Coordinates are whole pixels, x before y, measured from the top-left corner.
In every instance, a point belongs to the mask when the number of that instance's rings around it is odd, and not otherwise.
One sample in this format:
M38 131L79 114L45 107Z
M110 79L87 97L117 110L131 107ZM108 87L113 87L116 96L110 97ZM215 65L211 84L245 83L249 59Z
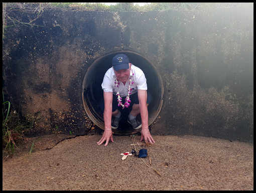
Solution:
M84 11L159 11L159 10L206 10L215 8L230 8L238 6L253 6L253 3L151 3L139 6L134 3L117 3L107 6L104 3L3 3L3 8L9 11L17 9L34 9L41 13L47 8L63 8Z

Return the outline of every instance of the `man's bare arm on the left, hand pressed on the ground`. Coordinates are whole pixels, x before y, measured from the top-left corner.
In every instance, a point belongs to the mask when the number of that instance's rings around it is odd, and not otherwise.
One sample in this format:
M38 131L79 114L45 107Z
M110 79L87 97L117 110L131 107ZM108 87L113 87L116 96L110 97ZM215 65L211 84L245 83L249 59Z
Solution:
M97 142L98 145L101 145L104 141L106 141L105 146L108 144L109 139L113 141L113 135L111 130L111 117L112 117L112 92L103 92L104 94L104 125L105 130L101 137L101 139Z

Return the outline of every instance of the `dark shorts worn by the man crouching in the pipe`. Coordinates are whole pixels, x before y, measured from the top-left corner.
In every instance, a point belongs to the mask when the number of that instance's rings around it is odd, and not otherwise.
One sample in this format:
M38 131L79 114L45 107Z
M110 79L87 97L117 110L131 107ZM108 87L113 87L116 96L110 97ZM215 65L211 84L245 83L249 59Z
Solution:
M148 91L147 91L147 93L148 93L147 104L150 104L150 103L152 102L152 100L153 100L153 99L152 99L152 95L151 95ZM131 103L130 103L129 108L131 108L131 110L132 110L132 106L133 106L134 104L139 104L138 92L136 92L136 93L130 95L130 98L131 98ZM124 104L124 103L125 103L125 97L122 97L122 104ZM114 112L117 108L118 108L119 110L122 109L122 107L118 107L117 105L118 105L117 97L116 97L116 95L113 94L112 112ZM100 110L101 113L104 113L104 106L105 106L105 105L104 105L104 98L102 98L102 99L99 101L99 110ZM126 108L126 107L124 107L124 108Z

